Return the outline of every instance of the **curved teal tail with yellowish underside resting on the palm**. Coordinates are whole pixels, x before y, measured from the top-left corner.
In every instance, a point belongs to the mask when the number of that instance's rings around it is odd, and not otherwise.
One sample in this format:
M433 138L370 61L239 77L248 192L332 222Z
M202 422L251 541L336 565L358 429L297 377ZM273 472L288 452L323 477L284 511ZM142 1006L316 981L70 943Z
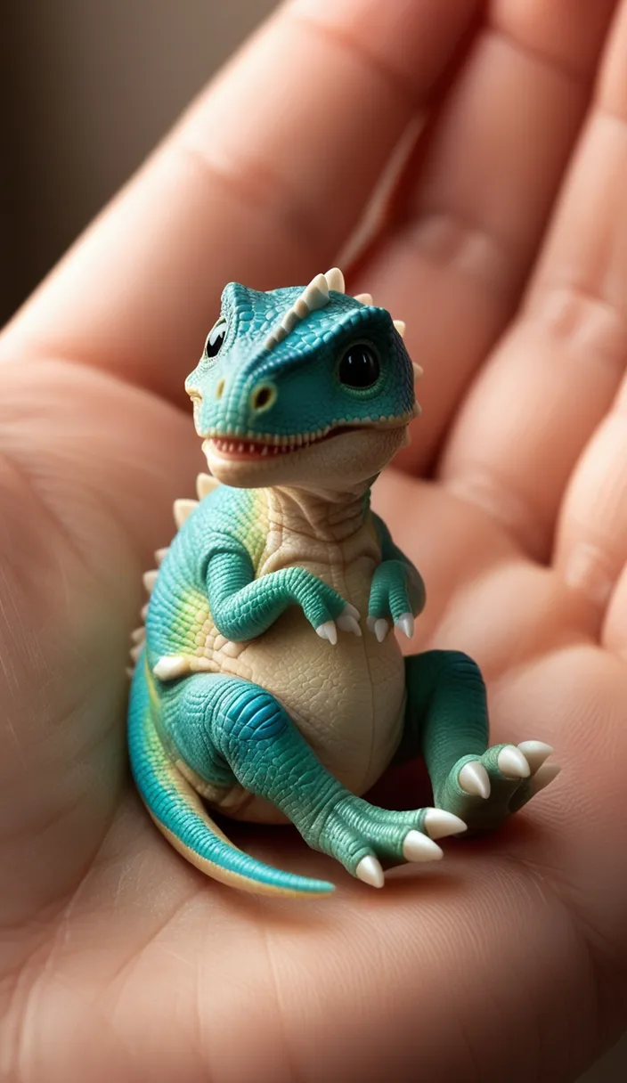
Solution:
M159 831L196 869L256 895L321 896L326 880L282 872L248 857L213 823L200 797L170 759L153 719L145 652L138 660L129 706L129 756L138 790Z

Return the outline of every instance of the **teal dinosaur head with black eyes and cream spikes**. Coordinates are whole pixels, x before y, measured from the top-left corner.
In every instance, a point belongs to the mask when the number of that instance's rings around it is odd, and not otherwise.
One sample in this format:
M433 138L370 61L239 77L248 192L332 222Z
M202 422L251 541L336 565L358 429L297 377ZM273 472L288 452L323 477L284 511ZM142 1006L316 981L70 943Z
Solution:
M345 488L379 473L418 412L402 325L341 272L258 292L230 283L185 390L227 485Z

